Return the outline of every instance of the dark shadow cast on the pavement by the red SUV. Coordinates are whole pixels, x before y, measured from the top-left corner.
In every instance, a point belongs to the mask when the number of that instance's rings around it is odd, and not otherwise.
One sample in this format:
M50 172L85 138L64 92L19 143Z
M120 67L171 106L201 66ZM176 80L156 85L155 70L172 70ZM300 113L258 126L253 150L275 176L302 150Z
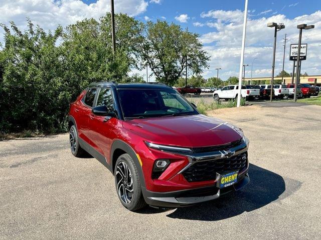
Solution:
M287 188L285 188L282 176L254 164L249 166L249 175L250 183L243 189L226 194L216 200L177 208L167 216L190 220L222 220L283 199L301 186L299 181L286 179ZM155 211L156 209L150 209L150 212L144 213L154 213ZM159 209L159 211L162 210Z

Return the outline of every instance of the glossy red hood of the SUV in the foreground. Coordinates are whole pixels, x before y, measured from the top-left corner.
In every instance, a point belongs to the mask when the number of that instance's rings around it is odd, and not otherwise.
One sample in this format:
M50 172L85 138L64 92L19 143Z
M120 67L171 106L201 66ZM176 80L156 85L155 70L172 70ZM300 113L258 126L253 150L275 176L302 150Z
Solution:
M123 126L149 142L183 147L221 145L243 136L230 123L202 114L132 119Z

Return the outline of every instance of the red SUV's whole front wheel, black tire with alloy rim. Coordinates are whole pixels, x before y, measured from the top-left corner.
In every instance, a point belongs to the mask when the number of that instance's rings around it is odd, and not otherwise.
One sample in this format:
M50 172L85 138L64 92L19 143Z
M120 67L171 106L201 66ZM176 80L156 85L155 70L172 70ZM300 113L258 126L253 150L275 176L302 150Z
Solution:
M146 205L137 167L129 154L124 153L118 157L114 176L117 195L124 207L135 211Z

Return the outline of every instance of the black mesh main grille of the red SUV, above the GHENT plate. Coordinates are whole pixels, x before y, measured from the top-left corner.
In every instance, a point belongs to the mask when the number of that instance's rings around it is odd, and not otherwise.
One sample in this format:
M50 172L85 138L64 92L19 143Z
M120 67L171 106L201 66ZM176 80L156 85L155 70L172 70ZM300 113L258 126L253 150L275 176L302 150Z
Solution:
M187 168L183 175L188 181L215 180L216 172L239 170L247 167L247 152L215 160L199 161Z

